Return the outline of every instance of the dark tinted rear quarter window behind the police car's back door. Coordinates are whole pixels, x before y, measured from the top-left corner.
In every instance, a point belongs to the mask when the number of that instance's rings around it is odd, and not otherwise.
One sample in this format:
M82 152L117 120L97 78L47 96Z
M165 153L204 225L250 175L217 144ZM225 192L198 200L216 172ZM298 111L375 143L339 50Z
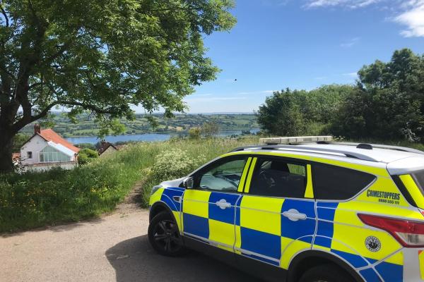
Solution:
M318 200L348 200L375 179L370 173L328 164L312 165L314 196Z

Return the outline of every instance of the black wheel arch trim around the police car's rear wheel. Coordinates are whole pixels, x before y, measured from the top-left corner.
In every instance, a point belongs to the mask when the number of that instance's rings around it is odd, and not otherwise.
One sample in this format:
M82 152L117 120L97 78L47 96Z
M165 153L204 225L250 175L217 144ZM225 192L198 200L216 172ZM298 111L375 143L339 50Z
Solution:
M296 255L288 267L287 281L298 281L300 274L302 274L307 269L310 269L311 267L317 266L319 264L327 263L335 264L336 266L340 267L348 274L350 274L355 279L355 281L364 282L360 274L358 274L358 272L355 271L351 265L344 262L342 259L336 257L335 255L319 250L308 250L305 252L300 252L300 254Z

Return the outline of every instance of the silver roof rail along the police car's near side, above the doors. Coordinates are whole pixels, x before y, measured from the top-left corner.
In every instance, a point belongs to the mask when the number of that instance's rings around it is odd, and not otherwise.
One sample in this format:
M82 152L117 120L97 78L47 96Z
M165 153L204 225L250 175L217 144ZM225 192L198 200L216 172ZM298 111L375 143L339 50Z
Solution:
M296 151L296 152L313 152L313 153L320 153L320 154L326 154L326 153L327 154L328 153L343 154L348 158L361 159L363 161L378 161L377 159L374 159L365 154L360 154L357 152L348 152L341 149L304 147L304 146L300 147L297 145L251 145L251 146L235 148L231 152L240 152L240 151L252 150L252 149L269 149L269 150L290 149L290 151Z

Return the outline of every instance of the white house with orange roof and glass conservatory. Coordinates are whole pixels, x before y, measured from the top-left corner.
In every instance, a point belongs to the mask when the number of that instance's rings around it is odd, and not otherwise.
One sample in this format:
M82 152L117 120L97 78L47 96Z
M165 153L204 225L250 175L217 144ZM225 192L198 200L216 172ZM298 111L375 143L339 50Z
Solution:
M20 147L24 171L44 171L55 166L71 169L77 164L79 148L64 140L52 129L34 125L34 135Z

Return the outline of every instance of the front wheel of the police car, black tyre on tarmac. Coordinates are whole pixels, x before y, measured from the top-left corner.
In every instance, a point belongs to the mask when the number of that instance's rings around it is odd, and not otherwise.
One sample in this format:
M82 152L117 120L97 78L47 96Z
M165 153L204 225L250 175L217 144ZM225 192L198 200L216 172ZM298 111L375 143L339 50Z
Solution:
M168 212L153 217L148 226L148 240L160 255L176 257L184 252L177 223Z

